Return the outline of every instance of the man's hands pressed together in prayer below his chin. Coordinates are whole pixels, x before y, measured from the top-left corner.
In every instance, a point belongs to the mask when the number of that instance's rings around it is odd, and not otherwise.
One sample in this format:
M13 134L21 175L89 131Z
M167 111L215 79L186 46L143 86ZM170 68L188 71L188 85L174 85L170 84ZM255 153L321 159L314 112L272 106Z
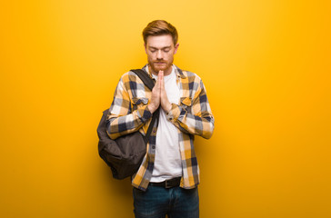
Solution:
M164 81L164 72L159 71L155 86L152 90L152 98L150 103L147 105L149 111L153 114L156 109L160 106L168 113L171 110L171 103L168 100L168 97L165 92L165 81Z

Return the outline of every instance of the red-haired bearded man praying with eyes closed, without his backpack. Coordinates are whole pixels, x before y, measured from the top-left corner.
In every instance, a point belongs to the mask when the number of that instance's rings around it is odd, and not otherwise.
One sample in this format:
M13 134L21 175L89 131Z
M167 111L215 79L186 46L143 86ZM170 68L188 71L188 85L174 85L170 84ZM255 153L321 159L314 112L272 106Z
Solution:
M206 89L196 74L175 64L176 28L163 21L149 23L144 31L146 74L155 79L152 92L132 72L117 84L107 116L112 139L135 131L146 133L160 107L145 158L132 177L135 217L195 218L199 216L194 135L210 138L214 117ZM158 124L157 124L158 123Z

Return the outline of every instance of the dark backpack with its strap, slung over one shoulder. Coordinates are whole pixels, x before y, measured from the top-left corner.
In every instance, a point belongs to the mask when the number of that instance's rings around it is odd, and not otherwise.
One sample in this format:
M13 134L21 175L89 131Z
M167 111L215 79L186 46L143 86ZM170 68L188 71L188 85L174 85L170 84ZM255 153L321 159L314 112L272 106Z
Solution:
M152 91L154 81L142 69L131 70L139 76L144 84ZM139 169L144 156L146 154L146 144L148 143L149 135L158 119L159 109L155 111L152 117L151 124L148 126L146 135L136 131L133 134L125 134L115 140L109 138L106 133L106 116L109 109L105 110L101 121L97 127L97 135L99 137L98 152L100 157L107 163L113 173L115 179L125 179L133 175Z

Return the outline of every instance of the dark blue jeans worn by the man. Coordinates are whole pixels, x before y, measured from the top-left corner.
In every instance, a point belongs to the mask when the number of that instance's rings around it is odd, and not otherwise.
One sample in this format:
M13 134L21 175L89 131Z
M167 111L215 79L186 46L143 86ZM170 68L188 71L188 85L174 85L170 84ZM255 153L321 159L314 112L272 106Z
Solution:
M147 190L134 188L135 218L198 218L199 195L197 187L183 189L149 185Z

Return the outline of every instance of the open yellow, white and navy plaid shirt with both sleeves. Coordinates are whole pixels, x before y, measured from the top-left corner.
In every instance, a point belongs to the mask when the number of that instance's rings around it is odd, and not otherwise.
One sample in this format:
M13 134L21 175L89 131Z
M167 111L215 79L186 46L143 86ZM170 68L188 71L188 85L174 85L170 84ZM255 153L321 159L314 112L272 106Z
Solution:
M176 83L180 90L180 102L172 104L166 118L178 129L178 144L182 160L183 175L180 186L191 189L200 181L196 161L194 135L210 138L214 131L214 117L206 97L206 89L199 76L182 71L175 64ZM146 72L145 65L143 70ZM153 76L149 73L151 78ZM152 114L147 104L152 92L133 72L122 75L115 89L114 100L107 116L107 133L111 139L140 131L145 135ZM132 177L132 185L145 191L151 179L155 162L157 122L153 127L146 154L138 171Z

